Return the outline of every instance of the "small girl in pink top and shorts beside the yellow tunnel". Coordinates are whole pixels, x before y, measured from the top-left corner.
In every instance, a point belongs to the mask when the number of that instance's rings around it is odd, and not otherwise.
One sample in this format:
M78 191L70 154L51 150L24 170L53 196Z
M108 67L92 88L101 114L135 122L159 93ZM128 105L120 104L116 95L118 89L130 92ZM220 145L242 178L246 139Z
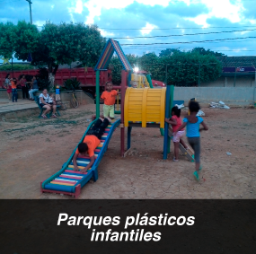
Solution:
M185 134L184 128L182 128L180 131L177 131L179 127L181 127L181 109L178 109L177 106L172 108L172 118L168 119L165 118L165 122L172 125L172 141L174 144L174 157L173 162L179 162L179 145L184 146L185 149L188 149L188 146L184 143L184 141L181 139L182 136ZM176 133L175 133L176 132ZM175 135L174 135L175 133Z

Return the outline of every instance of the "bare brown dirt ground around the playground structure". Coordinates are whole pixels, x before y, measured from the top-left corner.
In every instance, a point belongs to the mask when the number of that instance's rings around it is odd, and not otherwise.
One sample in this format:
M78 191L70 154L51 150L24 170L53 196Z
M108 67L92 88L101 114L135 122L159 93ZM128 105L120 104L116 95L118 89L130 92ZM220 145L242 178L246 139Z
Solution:
M84 105L61 111L58 119L35 116L0 122L0 198L72 198L41 194L40 181L61 169L94 110L95 105ZM158 128L134 127L131 153L121 158L117 128L99 165L99 180L86 184L79 198L255 198L256 110L203 111L209 130L201 136L199 182L193 178L194 163L185 156L177 163L170 153L163 161Z

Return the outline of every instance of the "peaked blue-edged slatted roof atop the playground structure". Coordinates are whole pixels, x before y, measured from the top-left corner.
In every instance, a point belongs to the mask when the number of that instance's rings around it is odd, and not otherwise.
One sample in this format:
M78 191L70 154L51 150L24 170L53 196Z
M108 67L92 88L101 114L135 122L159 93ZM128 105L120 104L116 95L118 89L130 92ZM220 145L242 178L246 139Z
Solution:
M102 51L102 56L100 57L97 65L94 67L95 71L106 70L110 64L110 59L114 52L119 57L119 60L126 71L132 71L132 66L128 62L128 58L125 56L119 42L114 39L109 39Z

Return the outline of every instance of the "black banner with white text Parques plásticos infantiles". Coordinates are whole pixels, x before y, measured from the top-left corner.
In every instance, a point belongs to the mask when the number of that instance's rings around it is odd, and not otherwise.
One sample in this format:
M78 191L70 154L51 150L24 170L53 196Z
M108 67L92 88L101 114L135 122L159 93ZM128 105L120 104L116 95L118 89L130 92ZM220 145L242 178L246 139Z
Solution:
M0 201L1 254L255 250L254 200Z

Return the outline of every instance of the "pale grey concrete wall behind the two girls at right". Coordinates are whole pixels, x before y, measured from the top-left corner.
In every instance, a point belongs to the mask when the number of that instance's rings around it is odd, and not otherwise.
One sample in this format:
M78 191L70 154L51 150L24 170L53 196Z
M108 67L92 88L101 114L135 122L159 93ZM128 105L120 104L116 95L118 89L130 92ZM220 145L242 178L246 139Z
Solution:
M174 100L199 102L224 101L226 105L254 105L256 91L254 87L175 87Z

